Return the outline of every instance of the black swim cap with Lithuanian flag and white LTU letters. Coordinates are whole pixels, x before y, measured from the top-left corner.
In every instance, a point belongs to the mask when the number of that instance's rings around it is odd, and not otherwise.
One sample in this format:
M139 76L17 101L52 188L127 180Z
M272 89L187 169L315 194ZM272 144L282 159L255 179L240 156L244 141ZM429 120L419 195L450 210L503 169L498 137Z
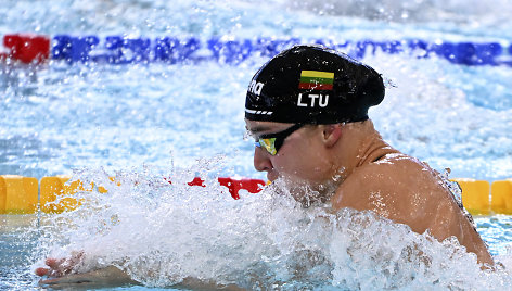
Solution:
M335 124L368 119L384 99L382 77L346 54L319 46L282 51L254 75L245 118Z

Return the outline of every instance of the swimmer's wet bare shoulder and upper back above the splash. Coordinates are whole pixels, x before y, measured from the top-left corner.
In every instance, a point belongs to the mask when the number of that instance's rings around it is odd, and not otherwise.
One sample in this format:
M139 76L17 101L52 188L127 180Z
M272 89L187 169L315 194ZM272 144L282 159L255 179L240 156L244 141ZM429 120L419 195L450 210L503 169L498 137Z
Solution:
M356 168L338 187L333 210L350 207L373 211L413 231L428 231L439 241L455 236L478 261L492 258L478 233L472 229L439 174L426 163L401 153Z

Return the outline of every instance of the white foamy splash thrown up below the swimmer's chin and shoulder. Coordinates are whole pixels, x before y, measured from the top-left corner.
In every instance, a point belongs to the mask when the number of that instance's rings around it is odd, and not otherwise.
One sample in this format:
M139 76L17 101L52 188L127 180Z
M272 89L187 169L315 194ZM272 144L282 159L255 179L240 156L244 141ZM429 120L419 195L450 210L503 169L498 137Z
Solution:
M80 207L43 219L35 265L82 251L75 271L115 265L152 287L188 277L252 290L500 290L512 283L503 267L482 270L455 239L438 242L371 212L304 207L282 180L238 201L214 178L206 187L187 185L219 161L175 169L172 184L150 167L118 172L114 181L102 169L76 173L75 179L108 192L80 192Z

